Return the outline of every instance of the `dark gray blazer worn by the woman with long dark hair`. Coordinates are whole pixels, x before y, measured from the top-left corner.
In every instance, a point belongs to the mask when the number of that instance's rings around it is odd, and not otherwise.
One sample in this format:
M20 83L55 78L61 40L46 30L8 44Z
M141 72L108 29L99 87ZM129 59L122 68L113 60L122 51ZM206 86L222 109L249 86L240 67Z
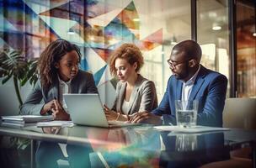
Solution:
M77 76L71 81L71 93L97 93L97 87L93 75L79 70ZM35 87L29 93L24 104L20 108L21 114L40 115L40 111L46 102L50 102L59 95L59 80L56 77L50 88L44 89L37 81Z

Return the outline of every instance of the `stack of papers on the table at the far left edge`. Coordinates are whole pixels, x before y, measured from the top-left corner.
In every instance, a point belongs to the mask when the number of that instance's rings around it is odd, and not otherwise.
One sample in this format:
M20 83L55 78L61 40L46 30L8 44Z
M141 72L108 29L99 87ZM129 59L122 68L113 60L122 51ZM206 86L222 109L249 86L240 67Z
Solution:
M36 123L42 121L51 121L53 117L40 115L17 115L17 116L2 116L2 126L21 129L28 126L35 126Z

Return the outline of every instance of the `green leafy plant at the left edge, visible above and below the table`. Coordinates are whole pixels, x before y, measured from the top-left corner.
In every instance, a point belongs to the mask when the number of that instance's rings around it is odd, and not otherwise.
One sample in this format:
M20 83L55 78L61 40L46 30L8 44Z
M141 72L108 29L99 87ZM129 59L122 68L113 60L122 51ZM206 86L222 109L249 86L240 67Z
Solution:
M3 78L2 84L13 79L14 90L19 100L19 107L23 104L23 100L20 95L20 87L23 87L27 81L29 81L31 85L35 86L35 83L38 80L36 66L37 60L26 59L24 57L24 53L20 50L0 50L0 77ZM28 158L26 158L24 154L28 153L30 150L27 148L30 144L29 139L15 137L7 139L9 139L9 143L8 145L5 145L5 147L8 148L4 149L8 151L8 154L6 155L19 156L19 165L26 164Z

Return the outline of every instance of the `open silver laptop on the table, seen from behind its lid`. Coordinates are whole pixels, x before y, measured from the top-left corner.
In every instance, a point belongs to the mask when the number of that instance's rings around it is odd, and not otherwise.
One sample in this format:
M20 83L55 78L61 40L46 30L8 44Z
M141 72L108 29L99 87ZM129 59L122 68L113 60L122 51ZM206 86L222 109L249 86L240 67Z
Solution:
M141 123L108 122L99 94L63 94L72 122L78 125L116 128L141 125Z

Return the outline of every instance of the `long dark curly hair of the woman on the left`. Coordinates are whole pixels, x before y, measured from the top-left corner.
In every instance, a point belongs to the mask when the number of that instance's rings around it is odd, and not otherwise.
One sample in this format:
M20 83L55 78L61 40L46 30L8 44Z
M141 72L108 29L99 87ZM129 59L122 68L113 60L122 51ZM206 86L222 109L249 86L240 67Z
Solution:
M49 88L53 82L53 79L57 76L56 63L67 53L75 50L79 56L79 62L81 60L81 53L77 45L72 45L65 39L57 39L51 42L45 50L41 53L38 70L40 75L41 86Z

